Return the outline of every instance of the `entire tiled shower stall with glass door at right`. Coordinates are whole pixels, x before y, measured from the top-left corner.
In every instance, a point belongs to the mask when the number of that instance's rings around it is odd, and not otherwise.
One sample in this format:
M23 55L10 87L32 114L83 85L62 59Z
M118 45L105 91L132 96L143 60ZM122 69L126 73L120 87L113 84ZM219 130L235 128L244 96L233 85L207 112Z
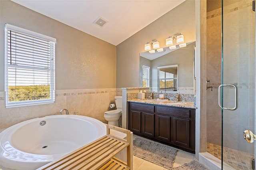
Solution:
M222 169L254 169L255 11L251 0L207 0L207 152ZM250 130L246 131L245 130ZM247 142L244 138L250 138Z

